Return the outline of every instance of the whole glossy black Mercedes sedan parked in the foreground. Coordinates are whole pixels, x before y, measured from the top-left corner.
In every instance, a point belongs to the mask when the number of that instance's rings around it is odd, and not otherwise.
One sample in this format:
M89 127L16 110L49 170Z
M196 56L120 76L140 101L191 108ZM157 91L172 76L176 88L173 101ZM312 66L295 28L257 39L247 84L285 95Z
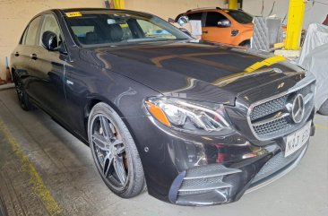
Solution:
M281 56L195 41L149 13L36 15L11 57L18 99L87 143L129 198L237 201L294 168L314 134L315 79Z

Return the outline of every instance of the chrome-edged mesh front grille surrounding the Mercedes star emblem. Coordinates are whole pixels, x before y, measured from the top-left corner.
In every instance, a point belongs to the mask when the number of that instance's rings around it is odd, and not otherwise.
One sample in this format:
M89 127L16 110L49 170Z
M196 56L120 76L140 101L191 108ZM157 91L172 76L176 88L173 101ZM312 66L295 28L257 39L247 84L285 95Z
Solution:
M301 123L291 117L292 100L302 94L305 100L305 116ZM311 114L315 95L315 81L307 82L295 91L288 91L276 98L259 101L248 113L248 123L259 140L270 140L297 130Z

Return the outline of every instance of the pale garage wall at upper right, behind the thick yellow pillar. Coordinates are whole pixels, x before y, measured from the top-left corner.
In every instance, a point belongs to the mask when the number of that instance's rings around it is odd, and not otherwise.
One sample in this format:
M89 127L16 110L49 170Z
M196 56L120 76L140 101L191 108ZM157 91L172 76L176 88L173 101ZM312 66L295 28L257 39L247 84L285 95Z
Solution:
M289 10L288 0L244 0L243 9L244 11L251 13L253 15L261 15L262 3L264 2L263 15L267 16L271 10L273 2L275 2L272 14L276 14L278 17L284 18ZM307 29L308 24L313 22L324 22L324 18L328 13L328 1L321 1L326 4L320 4L316 2L308 2L306 4L306 13L304 16L303 28ZM287 23L287 19L284 23Z

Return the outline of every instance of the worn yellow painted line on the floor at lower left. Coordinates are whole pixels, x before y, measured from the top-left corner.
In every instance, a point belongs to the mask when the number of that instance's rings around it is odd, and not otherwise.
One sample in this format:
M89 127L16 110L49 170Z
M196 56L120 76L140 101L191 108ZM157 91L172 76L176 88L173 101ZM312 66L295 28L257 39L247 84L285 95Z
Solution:
M0 131L4 134L4 138L12 146L13 152L21 160L22 171L30 174L30 184L33 188L35 194L39 196L39 199L44 204L50 215L61 215L62 210L59 208L58 203L56 203L54 197L47 190L44 185L42 178L39 176L37 170L31 164L29 158L22 152L20 145L13 138L13 134L4 125L4 122L0 120Z

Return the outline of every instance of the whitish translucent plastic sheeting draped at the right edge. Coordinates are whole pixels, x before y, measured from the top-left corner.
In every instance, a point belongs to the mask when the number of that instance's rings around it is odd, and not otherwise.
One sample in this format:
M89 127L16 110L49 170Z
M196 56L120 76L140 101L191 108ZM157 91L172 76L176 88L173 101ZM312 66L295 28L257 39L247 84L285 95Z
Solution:
M328 26L311 24L306 33L299 65L316 78L315 110L328 99Z

